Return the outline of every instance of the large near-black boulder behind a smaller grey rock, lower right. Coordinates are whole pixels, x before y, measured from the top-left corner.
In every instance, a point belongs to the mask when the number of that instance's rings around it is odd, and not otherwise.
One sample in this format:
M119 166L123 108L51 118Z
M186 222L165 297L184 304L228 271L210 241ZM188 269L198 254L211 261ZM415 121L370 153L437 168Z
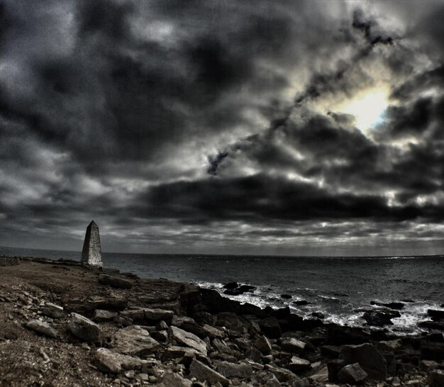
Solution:
M387 361L372 344L343 345L340 348L339 358L346 364L359 363L370 379L387 378Z

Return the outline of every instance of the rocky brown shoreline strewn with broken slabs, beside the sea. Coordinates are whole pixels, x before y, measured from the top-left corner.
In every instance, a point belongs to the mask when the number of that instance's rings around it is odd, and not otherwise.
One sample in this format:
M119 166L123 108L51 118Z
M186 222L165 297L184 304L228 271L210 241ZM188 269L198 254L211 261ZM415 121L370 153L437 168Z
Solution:
M72 261L0 276L0 386L444 386L440 310L398 337Z

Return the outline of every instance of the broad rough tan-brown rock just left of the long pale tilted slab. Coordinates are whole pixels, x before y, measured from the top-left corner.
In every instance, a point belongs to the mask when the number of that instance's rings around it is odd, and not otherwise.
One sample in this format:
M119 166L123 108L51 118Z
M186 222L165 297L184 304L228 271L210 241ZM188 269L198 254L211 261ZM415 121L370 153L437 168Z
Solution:
M113 335L113 351L131 356L152 354L159 348L159 343L138 325L118 330Z

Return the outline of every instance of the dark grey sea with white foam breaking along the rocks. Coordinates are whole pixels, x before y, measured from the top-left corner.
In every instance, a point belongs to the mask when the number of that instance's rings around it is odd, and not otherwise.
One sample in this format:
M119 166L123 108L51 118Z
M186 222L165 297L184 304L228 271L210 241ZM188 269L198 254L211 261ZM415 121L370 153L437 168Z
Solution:
M80 252L0 247L0 255L80 259ZM421 332L428 309L443 310L444 256L424 257L270 257L245 255L103 253L104 267L129 271L142 278L164 278L213 288L224 284L255 286L251 293L227 296L265 308L289 306L311 318L321 312L324 321L363 326L372 305L404 302L401 317L389 330L397 334ZM282 298L282 295L291 298ZM223 296L226 296L223 294ZM297 305L295 301L307 301Z

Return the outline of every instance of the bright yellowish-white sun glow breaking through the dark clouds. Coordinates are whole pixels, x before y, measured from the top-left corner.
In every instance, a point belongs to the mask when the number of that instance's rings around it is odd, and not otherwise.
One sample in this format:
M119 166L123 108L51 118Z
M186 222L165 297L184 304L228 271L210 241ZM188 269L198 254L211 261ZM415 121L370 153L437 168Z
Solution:
M388 89L384 87L361 91L353 99L335 106L334 110L355 116L357 128L364 131L382 120L382 115L389 105L388 94Z

